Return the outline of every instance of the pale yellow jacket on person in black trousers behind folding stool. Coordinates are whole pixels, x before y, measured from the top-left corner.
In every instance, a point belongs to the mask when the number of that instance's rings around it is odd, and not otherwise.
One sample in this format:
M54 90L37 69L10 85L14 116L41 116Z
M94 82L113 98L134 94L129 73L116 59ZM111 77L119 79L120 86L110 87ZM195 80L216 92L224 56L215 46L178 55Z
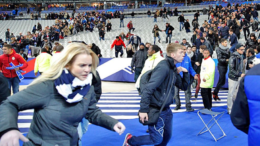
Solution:
M214 84L215 62L209 56L208 58L202 59L202 63L200 66L200 88L212 88ZM206 82L203 82L203 79L205 79Z

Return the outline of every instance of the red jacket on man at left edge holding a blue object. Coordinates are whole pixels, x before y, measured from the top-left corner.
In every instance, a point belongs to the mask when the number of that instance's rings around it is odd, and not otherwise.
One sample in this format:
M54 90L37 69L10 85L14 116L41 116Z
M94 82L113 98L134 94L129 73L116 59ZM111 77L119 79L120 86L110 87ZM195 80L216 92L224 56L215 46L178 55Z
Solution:
M2 71L3 75L7 78L14 78L17 77L16 71L14 69L6 69L6 67L11 67L9 63L13 63L15 66L19 64L23 64L20 69L24 69L28 66L27 62L24 60L24 58L16 53L14 49L12 49L11 54L3 54L0 56L0 70Z

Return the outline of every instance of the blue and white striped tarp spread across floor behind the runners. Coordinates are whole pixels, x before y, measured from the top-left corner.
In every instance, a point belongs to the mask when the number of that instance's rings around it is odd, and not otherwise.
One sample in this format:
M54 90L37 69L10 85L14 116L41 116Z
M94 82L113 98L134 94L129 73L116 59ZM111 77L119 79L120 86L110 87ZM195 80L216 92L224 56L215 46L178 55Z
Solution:
M195 90L192 91L192 95L194 94ZM220 90L218 95L221 101L214 101L212 99L212 106L218 107L227 105L228 90ZM192 101L192 99L193 98L190 100L192 103L192 108L195 110L204 108L200 92L196 102ZM115 119L135 119L138 118L137 114L140 109L140 100L141 97L138 95L138 91L103 93L97 106L100 107L102 112L110 115ZM181 109L179 110L173 110L176 106L175 104L170 105L173 113L186 111L185 94L183 91L180 91L180 101ZM19 112L18 128L22 133L27 133L29 131L32 118L33 109Z

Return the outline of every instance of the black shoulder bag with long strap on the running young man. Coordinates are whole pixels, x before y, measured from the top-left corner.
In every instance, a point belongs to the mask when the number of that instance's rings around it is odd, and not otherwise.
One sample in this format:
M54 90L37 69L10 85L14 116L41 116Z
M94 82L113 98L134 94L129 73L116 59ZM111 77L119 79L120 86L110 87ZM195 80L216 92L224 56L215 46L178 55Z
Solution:
M173 80L174 80L174 73L173 73L173 79L172 79L172 82L171 82L171 88L173 87ZM139 116L140 110L139 110L138 117L139 117L139 122L141 124L143 124L143 125L155 125L158 122L158 119L160 117L161 111L163 110L163 107L166 104L166 101L168 100L169 95L171 93L171 88L170 88L170 90L168 92L168 95L167 95L166 99L164 100L163 105L161 106L160 110L158 110L157 108L149 106L149 112L147 113L148 114L148 121L144 121L144 123L143 123L140 120L140 116Z

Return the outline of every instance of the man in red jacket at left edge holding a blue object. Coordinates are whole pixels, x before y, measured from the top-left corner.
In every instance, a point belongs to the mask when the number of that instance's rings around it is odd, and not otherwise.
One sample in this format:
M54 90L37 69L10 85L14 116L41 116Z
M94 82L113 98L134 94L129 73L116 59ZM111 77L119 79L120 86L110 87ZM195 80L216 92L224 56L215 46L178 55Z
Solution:
M28 64L24 58L16 53L10 44L3 46L4 54L0 56L0 72L6 77L9 85L9 90L13 87L13 94L19 92L19 78L16 71L25 69ZM15 66L23 64L22 67L15 68L13 70L6 69L6 67L11 67L9 63L13 63Z

